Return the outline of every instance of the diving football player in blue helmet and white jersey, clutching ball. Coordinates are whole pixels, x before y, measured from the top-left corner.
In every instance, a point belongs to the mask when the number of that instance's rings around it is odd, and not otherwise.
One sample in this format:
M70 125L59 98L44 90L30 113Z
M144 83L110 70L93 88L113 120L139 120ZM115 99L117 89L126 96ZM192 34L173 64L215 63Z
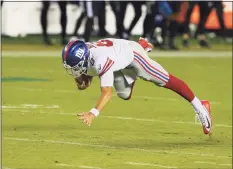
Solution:
M151 50L152 45L143 38L138 42L113 38L93 43L70 41L62 51L62 62L67 72L74 77L78 89L84 90L90 86L94 76L99 77L101 87L95 107L78 114L79 119L90 126L110 101L113 88L120 98L129 100L137 78L141 78L170 89L191 103L203 132L209 134L212 129L210 103L199 100L184 81L149 58L147 52Z

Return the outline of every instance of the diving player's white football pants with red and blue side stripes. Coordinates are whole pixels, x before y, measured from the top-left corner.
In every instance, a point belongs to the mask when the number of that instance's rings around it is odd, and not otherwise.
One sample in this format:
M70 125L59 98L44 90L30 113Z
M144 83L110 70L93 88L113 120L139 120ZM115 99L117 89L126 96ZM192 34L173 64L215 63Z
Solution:
M139 43L131 41L130 45L134 53L133 62L126 69L114 72L114 88L117 95L124 100L130 99L138 77L157 86L164 86L169 80L168 72L149 58Z

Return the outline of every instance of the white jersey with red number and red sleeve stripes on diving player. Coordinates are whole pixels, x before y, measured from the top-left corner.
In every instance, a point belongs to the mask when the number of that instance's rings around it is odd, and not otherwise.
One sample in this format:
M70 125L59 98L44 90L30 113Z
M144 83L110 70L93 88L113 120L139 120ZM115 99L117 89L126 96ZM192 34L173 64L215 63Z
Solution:
M88 72L99 76L101 87L113 85L113 72L125 69L134 59L130 41L123 39L102 39L86 43L90 50Z

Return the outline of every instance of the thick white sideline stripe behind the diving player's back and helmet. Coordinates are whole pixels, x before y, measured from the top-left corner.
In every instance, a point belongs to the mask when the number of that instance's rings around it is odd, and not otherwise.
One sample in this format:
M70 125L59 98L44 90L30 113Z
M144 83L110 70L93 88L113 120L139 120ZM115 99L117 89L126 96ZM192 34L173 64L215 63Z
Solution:
M148 53L151 58L159 57L232 57L231 51L153 51ZM61 57L61 51L2 51L2 57Z

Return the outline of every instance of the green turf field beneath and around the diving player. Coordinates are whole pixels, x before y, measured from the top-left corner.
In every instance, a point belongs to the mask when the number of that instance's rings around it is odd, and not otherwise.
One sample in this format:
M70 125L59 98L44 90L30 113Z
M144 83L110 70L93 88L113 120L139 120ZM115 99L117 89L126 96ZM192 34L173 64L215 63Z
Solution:
M40 47L22 57L7 52L2 58L3 168L232 168L232 57L150 55L199 98L210 100L209 137L185 100L142 80L130 101L114 94L87 127L76 113L94 106L98 78L80 92L59 56L46 57Z

